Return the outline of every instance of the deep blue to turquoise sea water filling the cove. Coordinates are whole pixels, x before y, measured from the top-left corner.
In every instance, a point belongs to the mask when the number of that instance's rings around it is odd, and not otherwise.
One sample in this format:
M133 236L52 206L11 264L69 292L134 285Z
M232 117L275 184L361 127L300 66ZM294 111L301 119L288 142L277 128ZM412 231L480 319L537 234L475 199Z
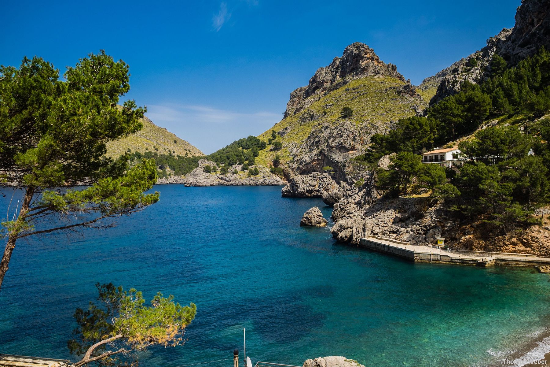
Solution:
M281 187L155 189L158 204L114 229L18 244L0 291L0 352L71 358L72 314L95 282L197 304L189 341L144 353L145 367L242 355L243 327L254 362L499 365L550 325L550 277L532 269L412 264L341 245L329 228L299 226L310 207L331 209L281 198Z

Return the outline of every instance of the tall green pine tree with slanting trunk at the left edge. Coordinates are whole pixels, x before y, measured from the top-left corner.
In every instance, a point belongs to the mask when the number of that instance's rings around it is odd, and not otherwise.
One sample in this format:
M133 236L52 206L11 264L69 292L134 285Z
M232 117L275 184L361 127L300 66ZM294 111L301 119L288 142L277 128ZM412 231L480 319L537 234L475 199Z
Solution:
M106 228L110 218L158 201L158 193L145 194L157 180L154 161L129 169L128 155L103 158L109 141L142 128L145 108L117 107L129 89L128 65L103 51L67 68L63 79L39 57L0 67L0 180L23 191L18 212L2 223L0 286L18 239Z

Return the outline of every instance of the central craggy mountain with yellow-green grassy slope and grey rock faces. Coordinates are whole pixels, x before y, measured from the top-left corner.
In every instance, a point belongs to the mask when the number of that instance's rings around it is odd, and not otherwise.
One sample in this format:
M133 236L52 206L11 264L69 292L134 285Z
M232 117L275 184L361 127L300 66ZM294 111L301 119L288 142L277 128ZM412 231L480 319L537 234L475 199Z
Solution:
M351 160L364 154L371 136L387 133L400 118L420 116L427 106L395 65L355 42L292 92L285 118L260 135L272 139L275 131L282 149L263 151L260 158L270 162L281 155L288 180L283 196L324 198L334 205L368 174ZM342 115L345 107L351 116Z

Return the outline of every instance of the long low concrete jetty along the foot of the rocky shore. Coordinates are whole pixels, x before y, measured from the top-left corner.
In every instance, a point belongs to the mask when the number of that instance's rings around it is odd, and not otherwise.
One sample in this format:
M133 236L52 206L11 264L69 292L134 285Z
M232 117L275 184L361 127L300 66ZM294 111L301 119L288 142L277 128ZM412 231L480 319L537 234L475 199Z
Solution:
M488 253L482 251L450 251L437 246L415 246L390 238L370 235L359 240L361 247L392 254L411 261L445 262L476 266L515 265L550 266L549 258L537 258L532 254Z

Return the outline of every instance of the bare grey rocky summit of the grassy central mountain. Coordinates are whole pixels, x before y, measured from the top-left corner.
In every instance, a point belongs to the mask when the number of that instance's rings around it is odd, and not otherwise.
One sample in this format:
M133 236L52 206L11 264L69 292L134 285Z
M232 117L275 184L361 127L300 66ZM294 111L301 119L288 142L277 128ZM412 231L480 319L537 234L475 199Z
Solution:
M309 84L299 87L290 94L284 117L300 112L328 92L348 84L351 80L371 75L392 76L405 81L403 75L397 72L395 65L381 61L374 50L365 43L351 43L344 49L342 57L335 57L331 64L317 69Z

